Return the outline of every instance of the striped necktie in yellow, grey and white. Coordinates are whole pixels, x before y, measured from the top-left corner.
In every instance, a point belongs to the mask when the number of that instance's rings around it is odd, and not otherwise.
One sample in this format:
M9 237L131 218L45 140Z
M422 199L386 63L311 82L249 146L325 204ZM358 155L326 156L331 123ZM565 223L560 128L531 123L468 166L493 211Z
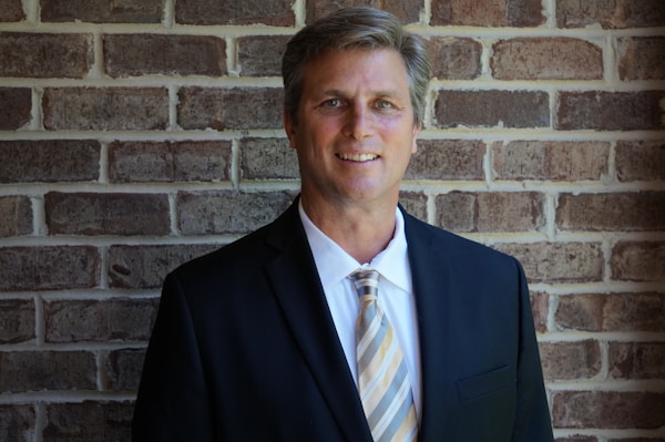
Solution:
M388 318L377 305L379 273L350 275L360 297L356 325L358 390L376 442L416 441L418 422L407 366Z

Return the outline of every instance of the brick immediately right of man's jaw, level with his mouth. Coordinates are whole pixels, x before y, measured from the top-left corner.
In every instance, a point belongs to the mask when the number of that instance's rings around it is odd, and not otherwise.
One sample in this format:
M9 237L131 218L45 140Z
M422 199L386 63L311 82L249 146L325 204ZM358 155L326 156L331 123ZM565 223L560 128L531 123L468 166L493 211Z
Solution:
M419 140L405 178L483 181L485 151L479 140Z

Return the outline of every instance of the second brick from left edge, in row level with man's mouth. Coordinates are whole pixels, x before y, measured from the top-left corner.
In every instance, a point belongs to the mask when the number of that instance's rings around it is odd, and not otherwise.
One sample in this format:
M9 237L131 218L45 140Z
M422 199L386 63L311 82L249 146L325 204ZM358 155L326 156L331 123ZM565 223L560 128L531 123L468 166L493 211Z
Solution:
M228 141L114 142L109 145L109 181L228 181L231 157L232 146Z

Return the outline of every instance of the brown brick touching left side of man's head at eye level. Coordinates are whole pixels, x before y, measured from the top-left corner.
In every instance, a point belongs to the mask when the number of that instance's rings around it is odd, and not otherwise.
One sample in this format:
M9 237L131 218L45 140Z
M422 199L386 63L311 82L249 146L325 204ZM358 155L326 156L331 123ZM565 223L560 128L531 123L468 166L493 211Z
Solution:
M184 129L282 129L283 91L277 88L183 88L177 106Z

